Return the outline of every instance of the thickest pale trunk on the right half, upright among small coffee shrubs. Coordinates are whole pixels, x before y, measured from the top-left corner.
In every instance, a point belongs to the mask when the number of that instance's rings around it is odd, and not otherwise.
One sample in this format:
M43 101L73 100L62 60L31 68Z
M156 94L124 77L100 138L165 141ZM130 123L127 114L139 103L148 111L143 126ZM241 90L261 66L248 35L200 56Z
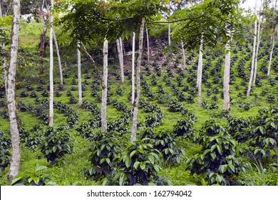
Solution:
M224 69L224 80L223 80L223 93L224 93L224 106L223 109L230 109L230 67L231 67L231 51L230 41L225 46L225 69Z

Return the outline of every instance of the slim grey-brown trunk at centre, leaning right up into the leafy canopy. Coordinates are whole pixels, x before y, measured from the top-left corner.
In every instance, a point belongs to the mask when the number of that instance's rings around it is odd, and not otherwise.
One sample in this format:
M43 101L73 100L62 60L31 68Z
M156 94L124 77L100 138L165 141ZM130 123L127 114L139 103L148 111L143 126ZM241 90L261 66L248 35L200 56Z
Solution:
M136 139L136 133L137 133L138 105L139 105L139 98L140 98L140 67L141 67L141 58L142 58L142 51L143 51L144 26L145 26L145 18L142 19L141 26L140 26L139 49L138 49L138 57L136 61L136 91L135 91L135 101L133 103L133 124L132 124L131 137L130 137L131 141L134 141Z

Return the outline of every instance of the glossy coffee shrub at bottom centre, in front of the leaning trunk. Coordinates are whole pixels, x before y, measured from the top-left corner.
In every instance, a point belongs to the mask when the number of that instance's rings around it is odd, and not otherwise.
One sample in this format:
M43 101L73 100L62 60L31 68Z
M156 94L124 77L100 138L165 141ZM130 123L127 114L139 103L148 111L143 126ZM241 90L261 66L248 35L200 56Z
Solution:
M130 142L115 157L118 170L113 178L113 184L133 186L137 184L148 185L158 180L160 171L160 152L153 148L146 140Z

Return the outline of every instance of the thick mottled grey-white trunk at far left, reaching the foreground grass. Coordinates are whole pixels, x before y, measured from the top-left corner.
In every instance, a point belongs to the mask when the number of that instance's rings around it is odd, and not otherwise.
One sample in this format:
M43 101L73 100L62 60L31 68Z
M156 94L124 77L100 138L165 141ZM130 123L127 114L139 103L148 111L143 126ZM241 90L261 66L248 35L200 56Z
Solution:
M8 92L7 92L7 104L9 110L9 121L10 121L10 131L11 131L11 146L12 146L12 156L11 156L11 166L9 169L9 174L7 176L9 184L14 179L14 177L19 174L20 165L20 139L19 139L19 127L17 124L16 116L16 66L17 66L17 53L19 46L19 26L20 26L20 1L14 0L14 19L13 19L13 29L11 34L11 58L8 74Z

